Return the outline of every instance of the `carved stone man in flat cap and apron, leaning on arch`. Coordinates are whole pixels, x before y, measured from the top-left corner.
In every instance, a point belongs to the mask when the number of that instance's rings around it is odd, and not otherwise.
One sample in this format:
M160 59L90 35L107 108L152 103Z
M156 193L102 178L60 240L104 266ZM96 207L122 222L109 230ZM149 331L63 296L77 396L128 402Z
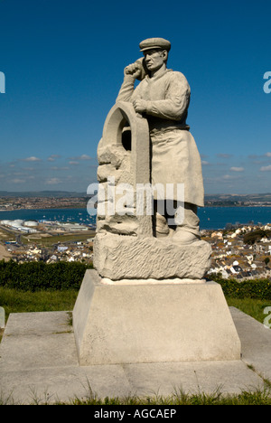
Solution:
M157 237L171 236L186 244L200 239L198 206L204 205L201 157L186 124L191 89L179 71L167 69L171 43L163 38L140 42L143 60L125 69L117 101L130 101L135 111L148 120L151 138L151 183L184 185L184 220L168 225L169 215L155 202L154 231ZM135 87L135 80L140 83ZM172 197L172 198L170 198ZM154 197L155 198L155 197ZM157 199L156 199L157 200ZM174 193L165 200L176 201Z

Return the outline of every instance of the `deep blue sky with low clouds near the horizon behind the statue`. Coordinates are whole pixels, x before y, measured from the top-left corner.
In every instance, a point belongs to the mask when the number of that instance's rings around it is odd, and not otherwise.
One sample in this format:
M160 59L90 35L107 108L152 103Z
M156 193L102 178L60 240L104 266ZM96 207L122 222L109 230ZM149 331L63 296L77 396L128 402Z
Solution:
M86 193L123 69L157 36L191 85L205 192L271 192L270 2L0 0L0 23L0 191Z

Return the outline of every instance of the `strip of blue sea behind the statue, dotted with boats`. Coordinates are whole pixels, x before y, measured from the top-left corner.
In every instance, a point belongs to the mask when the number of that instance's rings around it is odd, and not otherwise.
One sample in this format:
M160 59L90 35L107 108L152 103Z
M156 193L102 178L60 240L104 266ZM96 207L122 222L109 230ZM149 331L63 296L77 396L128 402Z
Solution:
M271 223L271 207L204 207L199 209L201 230L220 230L227 224ZM96 216L90 216L87 209L48 209L0 211L0 221L70 221L91 225Z

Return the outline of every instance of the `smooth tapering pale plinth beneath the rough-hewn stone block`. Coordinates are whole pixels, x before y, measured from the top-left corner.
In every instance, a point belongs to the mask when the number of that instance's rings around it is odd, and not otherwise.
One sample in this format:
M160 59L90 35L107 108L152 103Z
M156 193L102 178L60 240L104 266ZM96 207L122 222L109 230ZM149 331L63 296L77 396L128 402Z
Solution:
M88 270L73 328L81 366L240 359L229 307L214 282L108 284Z

